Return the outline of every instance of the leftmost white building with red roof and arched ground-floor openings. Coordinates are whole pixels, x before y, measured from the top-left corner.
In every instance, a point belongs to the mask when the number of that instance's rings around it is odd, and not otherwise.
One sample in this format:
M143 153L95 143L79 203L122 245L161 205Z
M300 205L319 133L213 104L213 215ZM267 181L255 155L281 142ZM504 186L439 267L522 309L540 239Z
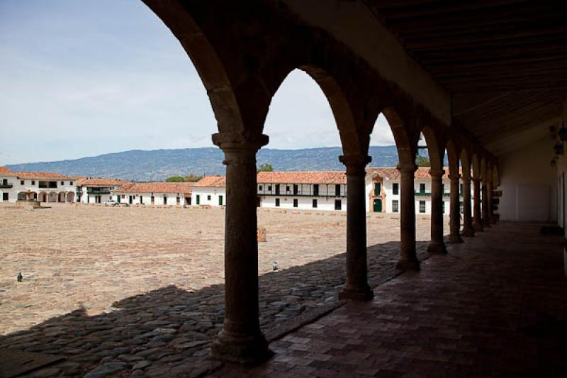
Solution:
M76 183L72 177L52 172L13 172L0 167L1 201L74 202Z

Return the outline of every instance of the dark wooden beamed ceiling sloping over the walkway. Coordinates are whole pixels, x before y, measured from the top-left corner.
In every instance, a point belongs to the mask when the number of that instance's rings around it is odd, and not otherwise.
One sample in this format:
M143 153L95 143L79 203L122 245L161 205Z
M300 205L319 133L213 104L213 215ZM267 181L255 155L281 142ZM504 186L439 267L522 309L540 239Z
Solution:
M561 114L567 1L365 2L451 93L454 123L481 143L490 145Z

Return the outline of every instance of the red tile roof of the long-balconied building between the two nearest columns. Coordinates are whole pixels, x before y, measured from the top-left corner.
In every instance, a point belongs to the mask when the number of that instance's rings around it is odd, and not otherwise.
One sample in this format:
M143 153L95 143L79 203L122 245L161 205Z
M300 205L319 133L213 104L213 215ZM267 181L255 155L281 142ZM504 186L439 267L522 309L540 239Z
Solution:
M259 172L258 184L347 184L344 171Z

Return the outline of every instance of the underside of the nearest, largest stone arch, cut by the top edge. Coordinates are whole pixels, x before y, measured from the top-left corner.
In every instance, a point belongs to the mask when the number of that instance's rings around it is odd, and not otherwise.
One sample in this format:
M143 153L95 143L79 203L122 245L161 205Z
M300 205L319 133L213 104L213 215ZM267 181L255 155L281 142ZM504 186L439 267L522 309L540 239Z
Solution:
M177 1L142 0L179 40L206 88L220 133L248 136L232 83L206 35Z

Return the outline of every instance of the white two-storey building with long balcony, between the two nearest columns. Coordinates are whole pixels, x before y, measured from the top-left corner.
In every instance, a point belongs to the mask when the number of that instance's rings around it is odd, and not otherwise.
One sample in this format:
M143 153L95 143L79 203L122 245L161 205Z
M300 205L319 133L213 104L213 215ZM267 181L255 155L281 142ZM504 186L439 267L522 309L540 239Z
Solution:
M344 172L259 172L257 181L259 207L347 209Z

